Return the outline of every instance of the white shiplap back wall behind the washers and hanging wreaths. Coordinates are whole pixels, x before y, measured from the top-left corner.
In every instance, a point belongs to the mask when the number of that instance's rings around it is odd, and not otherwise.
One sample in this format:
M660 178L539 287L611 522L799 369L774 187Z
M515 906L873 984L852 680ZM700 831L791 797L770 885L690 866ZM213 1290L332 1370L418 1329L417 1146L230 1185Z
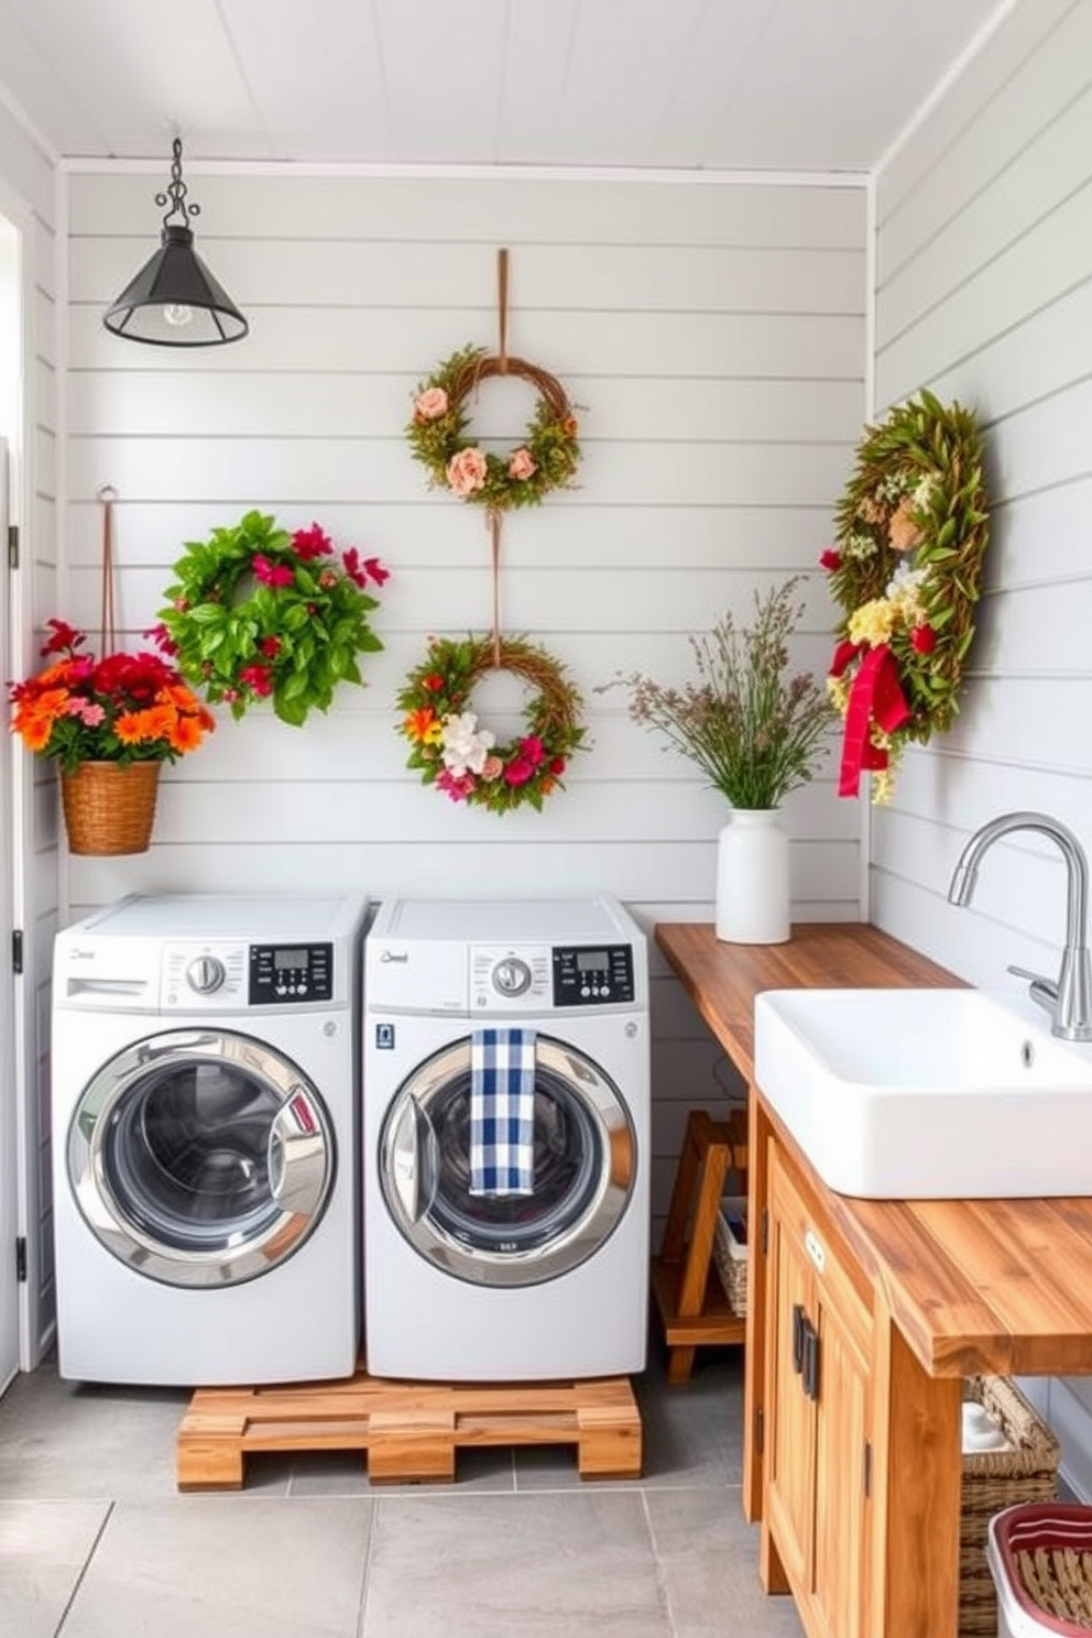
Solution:
M120 624L152 622L182 542L254 505L378 554L386 649L305 731L252 713L169 771L144 858L70 860L72 914L126 891L331 888L375 898L611 891L645 925L709 919L719 799L632 726L616 670L681 678L686 634L814 572L864 413L866 195L853 182L210 172L198 249L252 334L200 354L111 337L102 310L156 242L151 172L74 172L62 613L98 621L97 488L120 495ZM580 488L504 526L503 622L562 658L593 749L544 814L468 812L404 768L395 693L429 632L490 621L476 509L429 491L413 388L457 347L509 349L581 406ZM491 393L511 391L496 383ZM509 400L517 434L527 398ZM481 405L499 416L498 400ZM796 645L825 670L817 575ZM504 716L496 726L504 729ZM514 726L514 722L512 722ZM789 806L794 912L860 914L860 816L825 778ZM653 957L655 960L655 957ZM720 1063L657 962L655 1194Z

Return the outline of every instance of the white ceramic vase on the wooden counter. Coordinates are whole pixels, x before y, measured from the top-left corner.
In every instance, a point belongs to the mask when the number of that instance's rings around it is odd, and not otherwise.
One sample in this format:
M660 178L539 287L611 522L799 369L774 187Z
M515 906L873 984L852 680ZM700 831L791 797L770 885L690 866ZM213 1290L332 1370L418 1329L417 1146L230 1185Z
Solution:
M733 808L717 839L717 939L787 943L789 839L779 808Z

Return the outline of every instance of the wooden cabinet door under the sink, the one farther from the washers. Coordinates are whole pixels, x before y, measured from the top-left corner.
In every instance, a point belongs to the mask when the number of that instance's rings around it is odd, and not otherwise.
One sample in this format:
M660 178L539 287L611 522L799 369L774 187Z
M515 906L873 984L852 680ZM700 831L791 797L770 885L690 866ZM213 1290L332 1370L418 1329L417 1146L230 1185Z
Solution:
M828 1638L868 1631L868 1468L871 1464L869 1314L825 1247L819 1299L815 1399L814 1630Z

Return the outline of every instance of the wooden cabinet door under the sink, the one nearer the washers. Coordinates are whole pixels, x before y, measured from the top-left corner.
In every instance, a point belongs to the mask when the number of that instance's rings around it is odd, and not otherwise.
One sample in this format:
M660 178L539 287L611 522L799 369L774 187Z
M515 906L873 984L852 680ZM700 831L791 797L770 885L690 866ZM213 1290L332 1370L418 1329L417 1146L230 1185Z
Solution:
M810 1586L815 1487L815 1407L804 1392L804 1325L812 1310L812 1269L804 1250L804 1209L776 1148L769 1161L766 1305L765 1528L797 1599Z

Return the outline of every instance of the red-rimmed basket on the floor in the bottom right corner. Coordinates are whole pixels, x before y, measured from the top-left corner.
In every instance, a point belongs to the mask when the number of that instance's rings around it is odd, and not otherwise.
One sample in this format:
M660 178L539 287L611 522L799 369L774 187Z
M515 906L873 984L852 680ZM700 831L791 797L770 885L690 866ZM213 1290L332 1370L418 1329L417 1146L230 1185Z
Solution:
M986 1556L997 1586L999 1638L1089 1638L1092 1509L1007 1507L989 1522Z

